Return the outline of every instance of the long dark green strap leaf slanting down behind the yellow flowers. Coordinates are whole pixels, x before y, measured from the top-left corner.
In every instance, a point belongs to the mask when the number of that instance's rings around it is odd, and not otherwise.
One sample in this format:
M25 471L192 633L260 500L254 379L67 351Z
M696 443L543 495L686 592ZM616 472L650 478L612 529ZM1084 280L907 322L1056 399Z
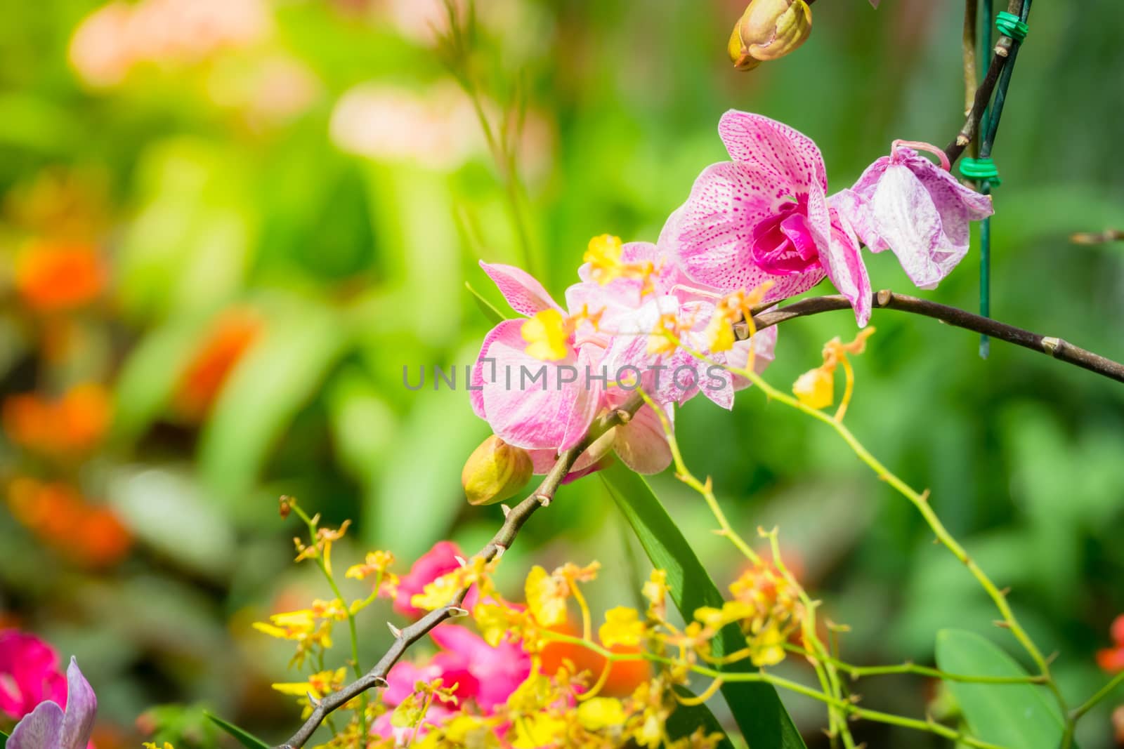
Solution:
M668 573L671 597L683 616L690 619L700 606L722 606L723 597L714 581L647 482L619 463L614 463L598 475L609 487L649 559ZM745 638L736 627L728 625L715 639L714 655L722 656L744 647ZM743 660L723 670L755 669ZM800 732L771 684L727 682L722 687L722 696L729 705L742 736L752 742L753 749L804 748Z

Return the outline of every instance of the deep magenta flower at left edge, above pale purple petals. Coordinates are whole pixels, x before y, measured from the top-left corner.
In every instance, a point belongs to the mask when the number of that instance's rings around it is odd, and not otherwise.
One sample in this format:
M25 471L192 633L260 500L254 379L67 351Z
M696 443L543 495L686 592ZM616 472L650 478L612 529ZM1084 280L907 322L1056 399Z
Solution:
M66 706L58 654L33 634L0 631L0 712L19 720L48 700Z

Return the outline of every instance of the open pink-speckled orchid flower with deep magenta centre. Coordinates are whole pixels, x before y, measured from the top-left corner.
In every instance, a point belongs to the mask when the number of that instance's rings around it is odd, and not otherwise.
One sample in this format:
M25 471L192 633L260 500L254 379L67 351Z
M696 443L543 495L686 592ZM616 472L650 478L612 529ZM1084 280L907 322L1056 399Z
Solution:
M867 325L870 280L850 222L827 199L816 144L787 125L734 110L723 115L718 134L733 161L704 170L673 216L670 239L687 276L722 292L772 281L764 298L771 301L826 275Z

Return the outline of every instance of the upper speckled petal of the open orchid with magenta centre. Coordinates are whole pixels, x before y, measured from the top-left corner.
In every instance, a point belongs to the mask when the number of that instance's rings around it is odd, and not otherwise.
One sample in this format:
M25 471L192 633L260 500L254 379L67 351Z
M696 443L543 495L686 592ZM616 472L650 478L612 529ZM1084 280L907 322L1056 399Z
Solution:
M812 138L761 115L731 109L718 121L718 135L735 162L753 167L767 185L783 185L790 194L818 186L827 191L824 157Z

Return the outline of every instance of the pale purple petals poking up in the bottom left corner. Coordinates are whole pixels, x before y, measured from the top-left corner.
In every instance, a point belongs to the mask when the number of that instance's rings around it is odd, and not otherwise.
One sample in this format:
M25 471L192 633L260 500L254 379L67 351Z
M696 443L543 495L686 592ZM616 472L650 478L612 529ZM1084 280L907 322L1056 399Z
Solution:
M93 732L98 698L71 658L66 669L65 711L54 700L40 702L12 729L8 749L85 749Z

